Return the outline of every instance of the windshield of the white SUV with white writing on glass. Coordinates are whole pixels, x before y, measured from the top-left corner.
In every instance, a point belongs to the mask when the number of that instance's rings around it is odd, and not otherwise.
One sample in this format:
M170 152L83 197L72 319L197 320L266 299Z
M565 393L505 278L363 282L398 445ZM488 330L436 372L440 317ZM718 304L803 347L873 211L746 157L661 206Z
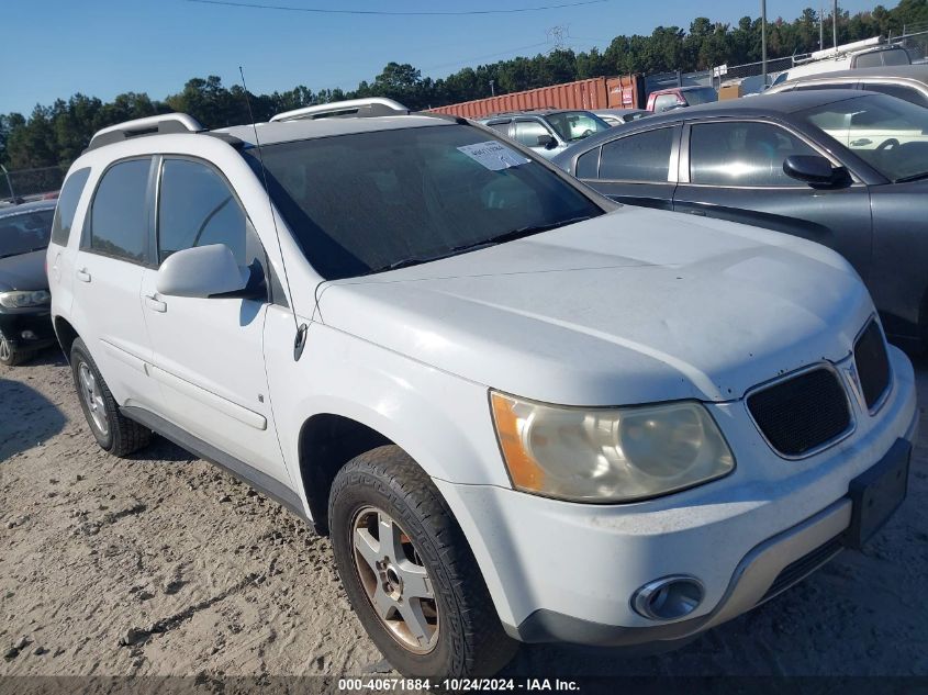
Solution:
M328 280L603 214L544 165L467 125L281 143L262 154L271 198ZM244 155L260 171L256 152Z

